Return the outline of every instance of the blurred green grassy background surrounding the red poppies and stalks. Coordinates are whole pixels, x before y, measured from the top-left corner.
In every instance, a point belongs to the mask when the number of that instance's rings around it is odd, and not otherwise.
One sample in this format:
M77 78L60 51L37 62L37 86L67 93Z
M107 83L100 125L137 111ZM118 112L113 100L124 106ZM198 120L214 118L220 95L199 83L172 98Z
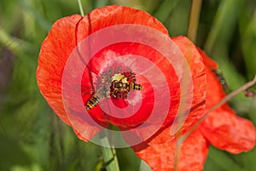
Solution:
M81 0L84 12L108 4L143 9L170 36L187 35L190 0ZM0 170L101 170L102 151L61 122L39 93L35 72L51 25L79 14L75 0L0 0ZM256 1L203 0L197 41L219 63L230 90L256 73ZM230 105L256 125L256 100L239 94ZM118 149L121 171L139 170L131 149ZM206 171L256 170L256 149L231 155L211 147ZM104 169L102 169L104 170Z

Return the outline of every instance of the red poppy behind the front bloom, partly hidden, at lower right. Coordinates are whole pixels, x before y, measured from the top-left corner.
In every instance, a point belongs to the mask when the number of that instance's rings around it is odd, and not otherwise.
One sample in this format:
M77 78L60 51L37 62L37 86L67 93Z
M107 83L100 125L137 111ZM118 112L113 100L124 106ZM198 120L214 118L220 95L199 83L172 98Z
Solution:
M177 43L184 54L191 51L188 44L192 45L186 37L175 37L172 40ZM195 47L195 46L194 46ZM207 74L207 107L217 104L225 96L224 89L219 83L218 77L212 70L217 70L218 65L212 61L207 54L197 48L203 57ZM166 133L165 133L166 132ZM143 150L136 147L137 155L154 170L173 170L174 151L177 139L170 139L166 136L168 128L160 133L155 139L148 142ZM164 139L164 140L163 140ZM229 105L218 107L207 115L187 140L183 143L178 157L178 170L202 170L207 158L209 144L218 149L229 151L230 153L240 153L250 151L255 145L255 128L253 123L242 117L236 116Z

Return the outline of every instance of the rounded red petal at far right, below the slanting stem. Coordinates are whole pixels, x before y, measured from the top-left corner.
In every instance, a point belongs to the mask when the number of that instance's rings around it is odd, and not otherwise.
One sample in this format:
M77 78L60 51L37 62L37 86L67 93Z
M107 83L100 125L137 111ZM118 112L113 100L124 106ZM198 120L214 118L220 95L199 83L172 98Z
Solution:
M201 133L218 149L230 153L250 151L255 145L253 123L236 116L235 111L224 105L212 111L201 123Z

